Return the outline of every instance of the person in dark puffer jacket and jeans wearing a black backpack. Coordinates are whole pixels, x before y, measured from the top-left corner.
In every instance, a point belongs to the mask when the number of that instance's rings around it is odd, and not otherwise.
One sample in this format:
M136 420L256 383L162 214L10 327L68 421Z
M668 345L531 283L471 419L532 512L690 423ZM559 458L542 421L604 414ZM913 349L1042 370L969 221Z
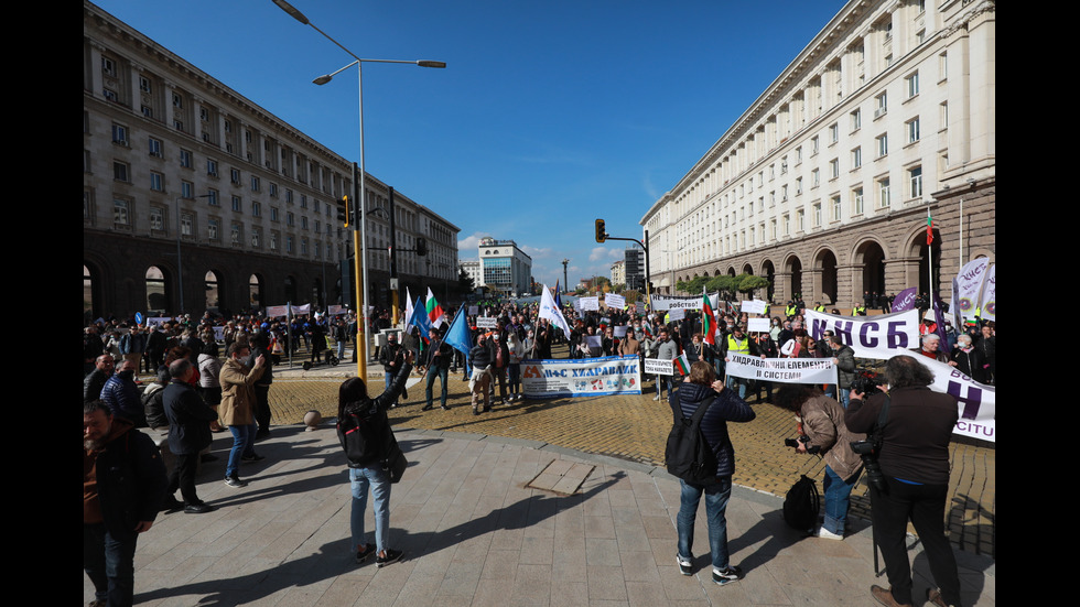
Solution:
M743 570L731 564L727 552L727 520L724 512L732 495L732 475L735 474L735 449L727 434L727 422L749 422L756 418L754 410L724 382L716 380L711 365L699 360L690 366L690 376L671 393L668 402L676 422L690 418L699 407L710 402L701 420L701 435L716 455L716 483L693 485L680 479L682 486L679 508L679 572L693 575L694 519L702 494L705 495L705 512L709 519L709 545L712 551L713 582L723 586L743 576Z

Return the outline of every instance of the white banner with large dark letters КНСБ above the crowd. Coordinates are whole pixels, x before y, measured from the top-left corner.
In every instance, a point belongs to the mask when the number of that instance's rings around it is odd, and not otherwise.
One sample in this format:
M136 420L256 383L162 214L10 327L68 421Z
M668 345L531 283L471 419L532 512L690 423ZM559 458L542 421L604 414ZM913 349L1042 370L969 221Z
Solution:
M838 316L808 310L806 316L811 337L824 339L825 330L832 330L860 358L888 359L901 354L897 350L919 347L917 310L877 316Z

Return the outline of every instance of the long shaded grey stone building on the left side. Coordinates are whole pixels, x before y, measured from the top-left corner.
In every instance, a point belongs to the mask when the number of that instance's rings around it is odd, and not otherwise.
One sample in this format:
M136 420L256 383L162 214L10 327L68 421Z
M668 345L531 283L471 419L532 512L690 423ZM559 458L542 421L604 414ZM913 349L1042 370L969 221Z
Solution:
M349 301L337 208L353 184L352 162L84 1L85 317ZM366 186L369 208L385 200L385 184ZM396 197L399 242L432 250L430 264L402 256L402 277L455 281L457 228ZM388 221L368 217L379 242ZM369 251L369 267L386 257ZM369 272L374 305L388 277Z

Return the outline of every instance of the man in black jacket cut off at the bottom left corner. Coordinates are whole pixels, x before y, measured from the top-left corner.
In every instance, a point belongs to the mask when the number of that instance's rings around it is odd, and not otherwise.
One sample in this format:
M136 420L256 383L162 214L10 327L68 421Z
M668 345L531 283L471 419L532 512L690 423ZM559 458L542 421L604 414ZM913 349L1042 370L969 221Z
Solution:
M99 604L133 603L136 545L168 484L149 436L99 400L83 404L83 571Z

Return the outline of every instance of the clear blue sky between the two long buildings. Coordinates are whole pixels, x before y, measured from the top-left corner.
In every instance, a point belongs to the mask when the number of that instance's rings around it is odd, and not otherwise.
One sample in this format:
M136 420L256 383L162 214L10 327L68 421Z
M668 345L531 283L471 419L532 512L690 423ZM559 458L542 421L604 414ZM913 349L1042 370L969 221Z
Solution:
M106 11L342 156L352 61L271 0L101 0ZM608 275L639 221L844 2L294 0L363 58L367 171L461 228L512 239L549 286Z

